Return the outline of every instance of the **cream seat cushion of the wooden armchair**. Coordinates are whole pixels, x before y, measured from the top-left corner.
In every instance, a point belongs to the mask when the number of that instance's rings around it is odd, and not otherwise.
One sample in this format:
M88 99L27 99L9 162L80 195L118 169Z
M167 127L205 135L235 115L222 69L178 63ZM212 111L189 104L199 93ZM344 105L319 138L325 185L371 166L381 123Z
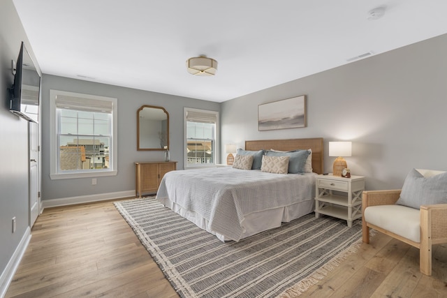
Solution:
M367 223L420 243L420 211L402 205L369 206L365 209Z

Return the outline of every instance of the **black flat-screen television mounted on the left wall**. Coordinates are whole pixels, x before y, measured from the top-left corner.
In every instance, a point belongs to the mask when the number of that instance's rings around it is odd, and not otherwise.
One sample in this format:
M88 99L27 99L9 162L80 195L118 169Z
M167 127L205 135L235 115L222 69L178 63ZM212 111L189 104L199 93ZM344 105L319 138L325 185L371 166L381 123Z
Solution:
M13 87L10 91L10 112L38 123L41 76L24 43L20 46L15 64Z

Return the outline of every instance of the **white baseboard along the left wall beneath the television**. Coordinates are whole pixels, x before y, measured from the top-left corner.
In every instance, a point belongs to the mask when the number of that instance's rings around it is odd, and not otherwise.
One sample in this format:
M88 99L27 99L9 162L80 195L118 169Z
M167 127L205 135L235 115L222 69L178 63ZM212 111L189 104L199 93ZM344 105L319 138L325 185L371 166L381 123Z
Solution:
M23 258L23 254L27 250L29 240L31 239L31 229L28 227L23 234L22 240L20 240L19 245L15 248L13 256L10 258L8 265L3 270L0 276L0 297L5 297L6 291L13 280L15 271L19 267L20 261Z

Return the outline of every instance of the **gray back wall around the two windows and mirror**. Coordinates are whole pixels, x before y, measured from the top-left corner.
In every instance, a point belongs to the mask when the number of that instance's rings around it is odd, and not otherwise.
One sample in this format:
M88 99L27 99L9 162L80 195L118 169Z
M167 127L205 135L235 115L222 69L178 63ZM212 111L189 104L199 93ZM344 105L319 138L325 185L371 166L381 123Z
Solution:
M50 89L118 98L118 174L91 178L50 179ZM163 151L137 151L137 110L142 105L164 107L169 113L170 159L183 169L183 108L220 111L220 104L206 100L43 75L42 80L42 200L135 190L135 161L163 161Z

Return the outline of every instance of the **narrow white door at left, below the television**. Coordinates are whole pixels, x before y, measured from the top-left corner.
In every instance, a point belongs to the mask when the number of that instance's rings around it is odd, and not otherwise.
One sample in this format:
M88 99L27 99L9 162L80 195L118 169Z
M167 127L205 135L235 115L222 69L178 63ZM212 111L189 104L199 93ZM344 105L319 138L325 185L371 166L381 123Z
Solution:
M29 147L29 226L32 227L39 214L39 151L38 151L38 124L28 122Z

